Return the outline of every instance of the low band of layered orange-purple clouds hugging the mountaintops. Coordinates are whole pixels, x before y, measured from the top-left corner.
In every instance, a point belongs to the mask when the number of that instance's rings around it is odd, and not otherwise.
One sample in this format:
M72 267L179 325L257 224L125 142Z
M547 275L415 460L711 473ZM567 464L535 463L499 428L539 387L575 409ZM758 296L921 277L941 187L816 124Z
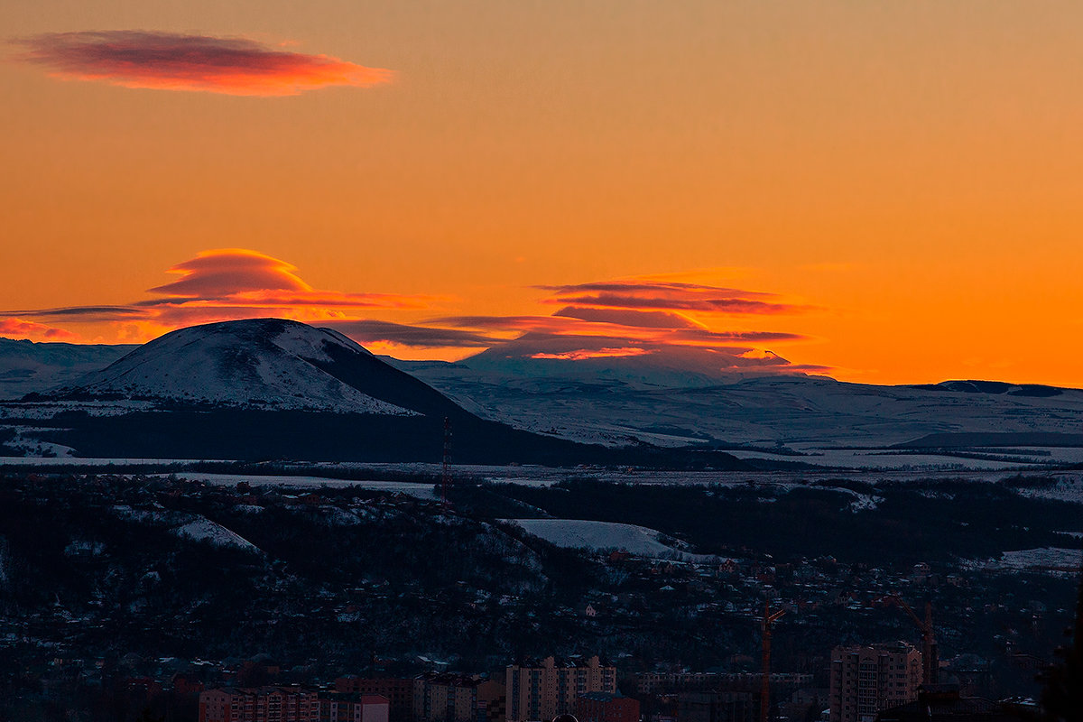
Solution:
M444 316L412 325L355 314L358 310L425 309L439 297L313 288L292 264L249 249L203 251L168 273L178 278L148 289L159 298L128 305L0 312L0 318L22 315L66 323L112 321L123 329L126 340L146 340L195 324L278 316L338 329L370 347L389 352L405 349L407 355L421 350L430 357L461 358L468 351L484 350L487 357L552 362L650 355L650 363L708 372L824 370L795 366L761 347L805 337L777 330L716 329L715 324L692 317L703 314L705 319L717 321L723 300L790 307L778 302L777 296L760 291L645 278L547 287L553 296L544 302L570 302L552 315ZM576 305L584 297L599 303L602 299L611 306ZM642 307L630 307L637 303ZM667 310L666 303L686 304L690 310ZM703 307L708 311L703 312Z

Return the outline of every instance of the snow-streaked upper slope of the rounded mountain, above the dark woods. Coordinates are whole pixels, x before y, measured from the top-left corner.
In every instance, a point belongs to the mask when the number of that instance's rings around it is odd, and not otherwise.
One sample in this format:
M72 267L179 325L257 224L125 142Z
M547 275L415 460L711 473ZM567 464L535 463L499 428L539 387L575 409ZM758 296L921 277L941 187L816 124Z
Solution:
M415 413L325 370L343 357L376 360L341 333L296 321L209 324L155 339L65 391L219 407Z

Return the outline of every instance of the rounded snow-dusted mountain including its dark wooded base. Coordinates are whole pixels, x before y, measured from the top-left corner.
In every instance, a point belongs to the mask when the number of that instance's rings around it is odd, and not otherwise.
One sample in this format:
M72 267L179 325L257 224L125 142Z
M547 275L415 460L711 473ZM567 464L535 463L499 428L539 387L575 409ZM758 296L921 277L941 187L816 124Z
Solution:
M32 344L48 355L51 344ZM611 449L485 420L347 337L291 320L195 326L0 404L9 454L751 468L713 449ZM0 452L2 455L2 452Z

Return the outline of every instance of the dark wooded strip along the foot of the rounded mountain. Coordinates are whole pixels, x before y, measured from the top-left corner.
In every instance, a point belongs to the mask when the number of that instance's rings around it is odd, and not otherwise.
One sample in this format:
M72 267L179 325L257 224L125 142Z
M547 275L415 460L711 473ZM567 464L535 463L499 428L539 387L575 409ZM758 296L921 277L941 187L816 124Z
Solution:
M139 411L116 417L68 412L45 441L79 455L159 459L439 462L443 417L308 411ZM456 463L603 464L747 471L761 468L701 448L608 448L520 431L466 411L453 421ZM773 467L772 467L773 468Z

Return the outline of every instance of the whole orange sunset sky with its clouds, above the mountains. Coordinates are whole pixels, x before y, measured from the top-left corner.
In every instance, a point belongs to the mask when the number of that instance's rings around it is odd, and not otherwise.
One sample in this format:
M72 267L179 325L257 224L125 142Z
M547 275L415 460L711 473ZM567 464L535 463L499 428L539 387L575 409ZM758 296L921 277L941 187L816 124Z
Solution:
M1083 386L1083 4L0 5L0 336Z

